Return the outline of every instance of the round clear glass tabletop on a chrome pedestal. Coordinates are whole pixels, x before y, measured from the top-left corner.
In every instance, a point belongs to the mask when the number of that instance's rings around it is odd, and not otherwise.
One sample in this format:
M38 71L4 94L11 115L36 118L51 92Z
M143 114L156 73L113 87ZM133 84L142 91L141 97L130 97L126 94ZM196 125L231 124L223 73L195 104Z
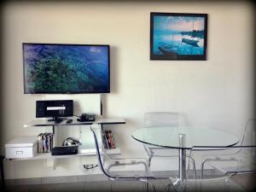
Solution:
M184 140L180 143L180 134ZM239 138L230 132L201 126L143 127L132 132L131 137L139 142L165 148L229 147L238 143Z

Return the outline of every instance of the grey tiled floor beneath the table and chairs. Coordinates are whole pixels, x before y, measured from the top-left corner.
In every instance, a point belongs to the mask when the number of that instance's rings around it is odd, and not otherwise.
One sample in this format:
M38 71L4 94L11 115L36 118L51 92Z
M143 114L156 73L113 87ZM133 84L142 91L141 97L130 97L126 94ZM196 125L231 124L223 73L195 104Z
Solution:
M168 179L157 179L151 181L154 183L156 192L166 191L166 186L170 181ZM199 190L201 187L201 190ZM137 181L92 181L79 183L48 183L48 184L30 184L30 185L8 185L6 192L143 192L145 185ZM149 192L153 189L149 188ZM174 191L171 188L171 191ZM237 183L230 183L229 188L224 183L224 180L208 179L202 183L189 183L186 192L192 191L229 191L229 192L246 192Z

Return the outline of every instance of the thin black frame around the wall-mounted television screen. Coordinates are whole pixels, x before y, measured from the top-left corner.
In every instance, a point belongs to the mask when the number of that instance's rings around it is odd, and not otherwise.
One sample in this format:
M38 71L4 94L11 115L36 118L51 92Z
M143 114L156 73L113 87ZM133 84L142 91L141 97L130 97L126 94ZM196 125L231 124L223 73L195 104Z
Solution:
M63 46L96 46L108 47L108 91L37 91L26 92L25 84L25 58L24 58L24 45L25 44L38 44L38 45L63 45ZM46 44L46 43L22 43L22 62L23 62L23 93L24 94L97 94L97 93L110 93L110 45L109 44Z

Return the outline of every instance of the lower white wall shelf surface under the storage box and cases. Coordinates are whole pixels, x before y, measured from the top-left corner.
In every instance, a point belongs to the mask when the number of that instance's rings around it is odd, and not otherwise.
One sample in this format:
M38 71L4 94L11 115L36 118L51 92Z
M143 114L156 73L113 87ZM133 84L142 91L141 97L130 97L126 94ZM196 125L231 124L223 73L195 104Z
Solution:
M107 149L108 154L121 154L120 148ZM30 158L17 158L11 160L49 160L49 159L63 159L63 158L73 158L82 156L95 156L96 152L87 152L82 154L68 154L68 155L51 155L51 153L38 153L34 157Z

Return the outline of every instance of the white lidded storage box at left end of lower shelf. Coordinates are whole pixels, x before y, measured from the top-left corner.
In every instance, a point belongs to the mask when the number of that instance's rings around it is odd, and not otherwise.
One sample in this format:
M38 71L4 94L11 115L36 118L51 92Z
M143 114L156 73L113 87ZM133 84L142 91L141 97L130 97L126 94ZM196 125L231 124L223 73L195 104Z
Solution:
M5 157L7 159L30 158L38 151L37 136L15 137L5 144Z

